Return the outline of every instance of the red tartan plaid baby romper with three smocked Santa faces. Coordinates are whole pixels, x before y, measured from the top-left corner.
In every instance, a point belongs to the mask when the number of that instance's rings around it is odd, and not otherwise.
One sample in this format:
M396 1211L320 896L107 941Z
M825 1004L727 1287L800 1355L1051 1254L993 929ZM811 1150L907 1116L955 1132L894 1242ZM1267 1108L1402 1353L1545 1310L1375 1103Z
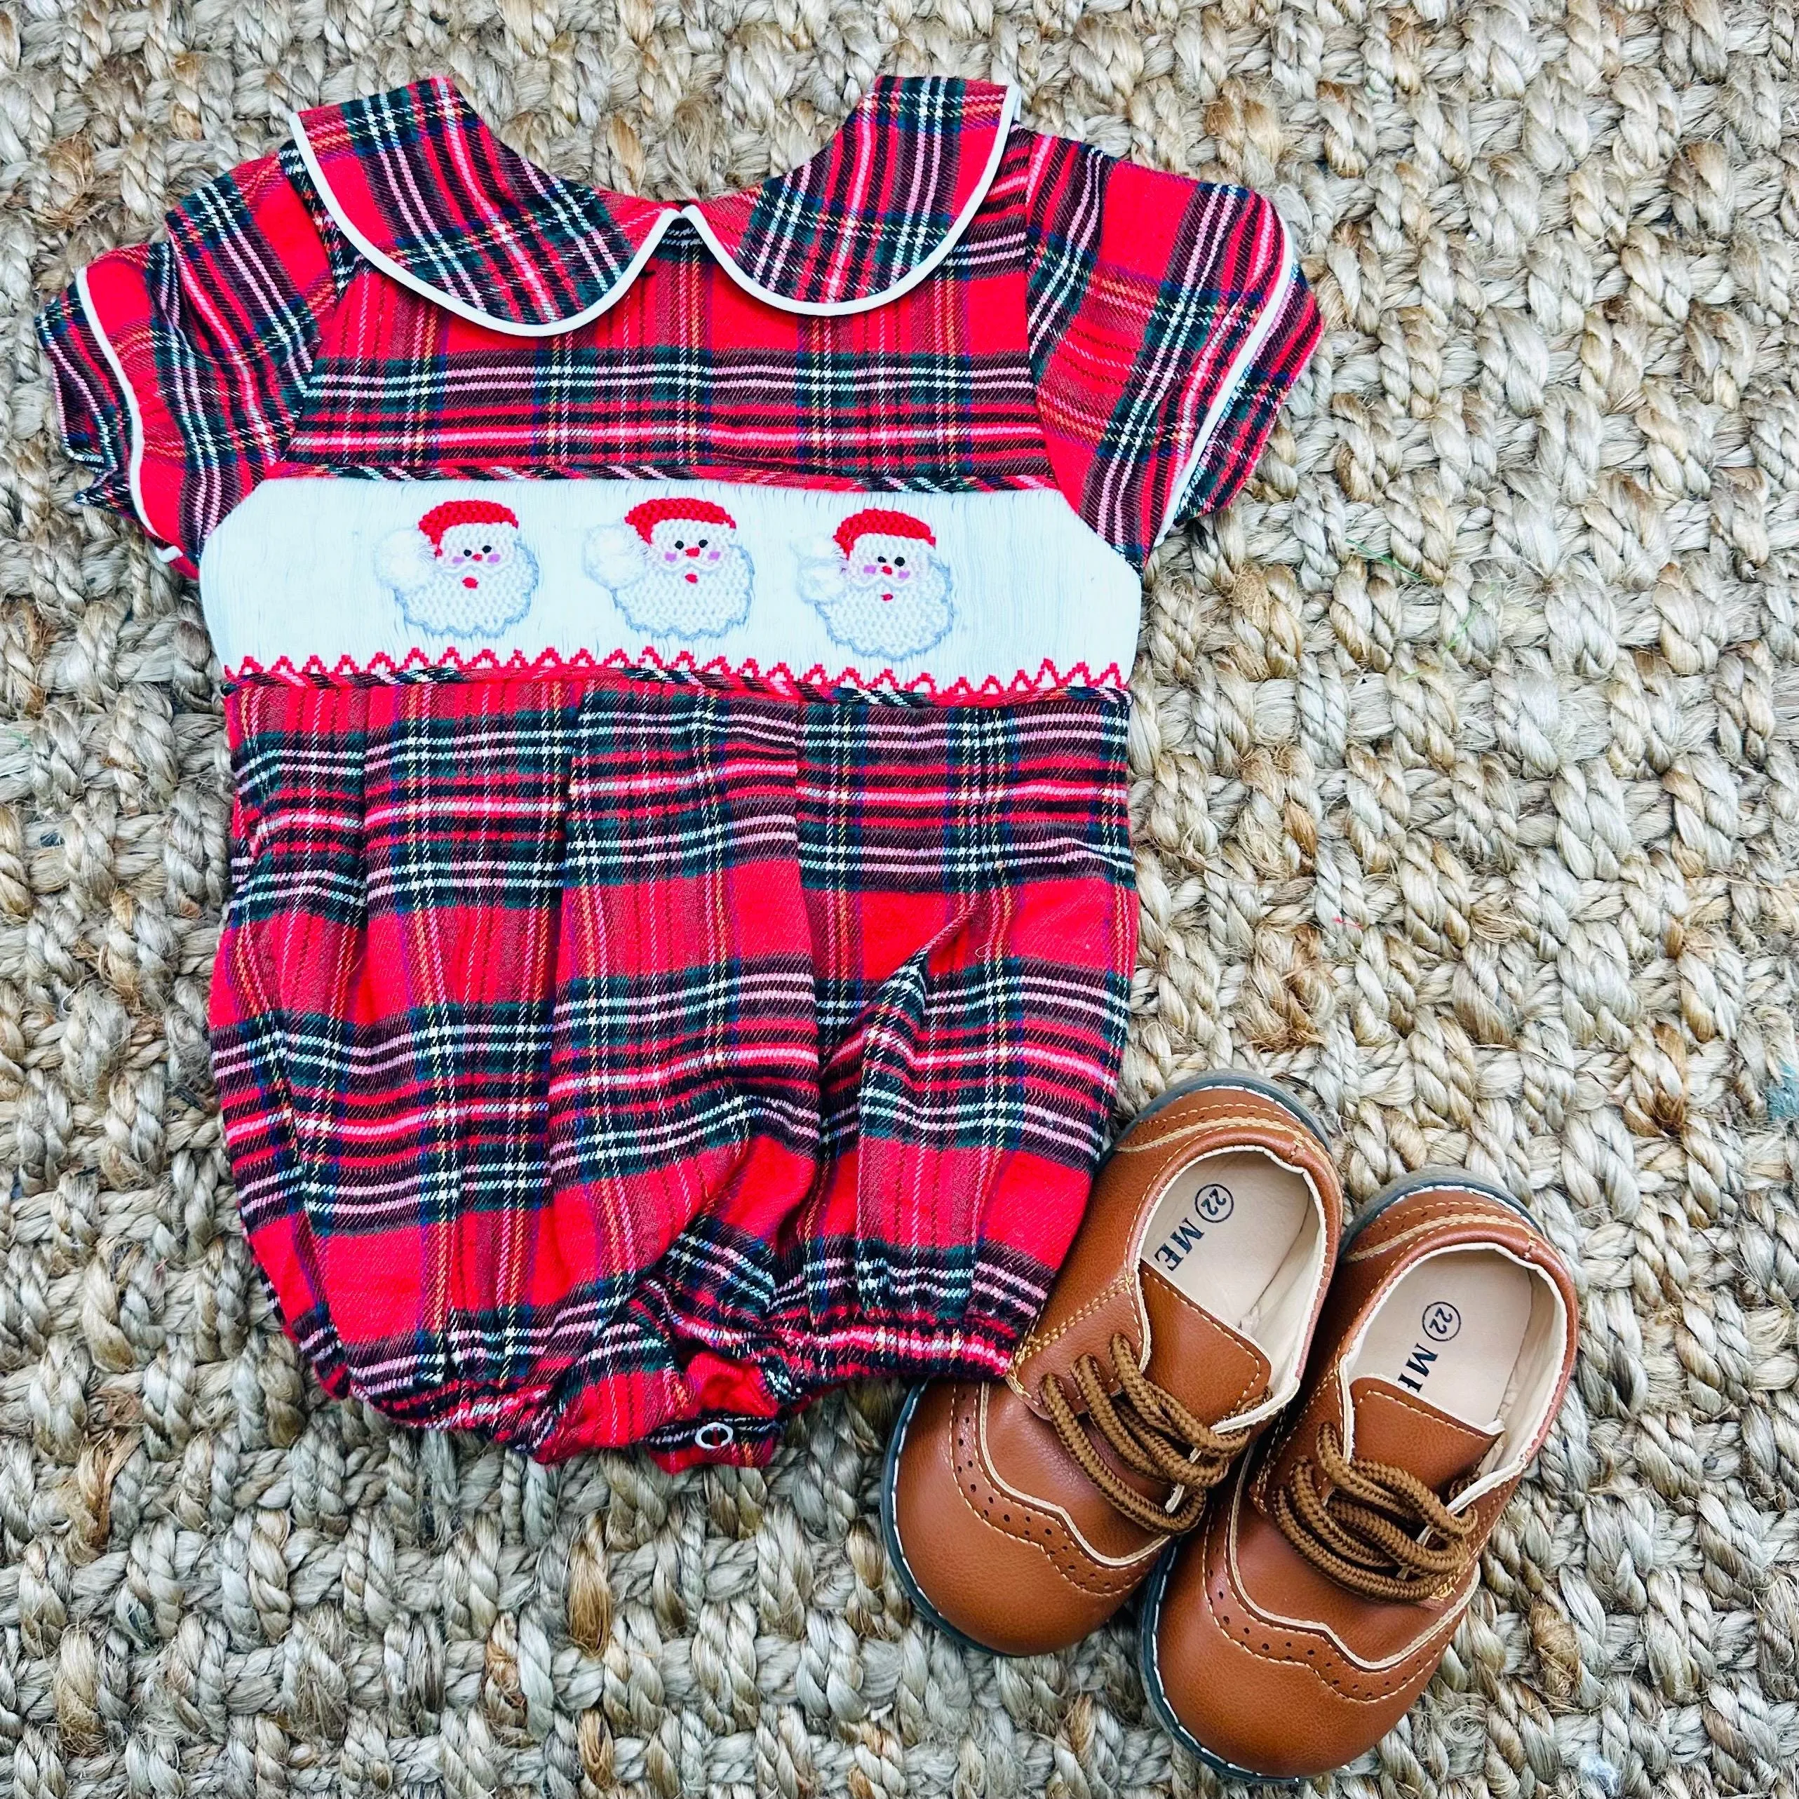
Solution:
M880 79L676 205L426 81L43 311L223 666L212 1058L329 1392L754 1463L1038 1311L1124 1042L1139 570L1319 313L1265 200L1015 112Z

